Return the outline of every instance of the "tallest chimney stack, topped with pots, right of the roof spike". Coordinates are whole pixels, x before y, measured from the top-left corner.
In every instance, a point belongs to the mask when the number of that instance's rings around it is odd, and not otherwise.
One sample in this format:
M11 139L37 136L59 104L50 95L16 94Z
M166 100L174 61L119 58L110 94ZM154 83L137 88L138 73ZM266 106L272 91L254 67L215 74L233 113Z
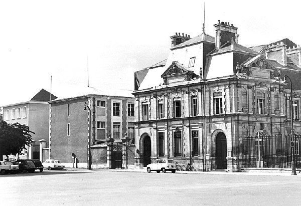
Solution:
M214 25L215 27L215 47L216 49L220 49L221 46L227 42L231 42L231 38L233 38L234 42L237 43L238 34L237 27L234 27L233 24L229 22L220 22L218 20L218 24Z

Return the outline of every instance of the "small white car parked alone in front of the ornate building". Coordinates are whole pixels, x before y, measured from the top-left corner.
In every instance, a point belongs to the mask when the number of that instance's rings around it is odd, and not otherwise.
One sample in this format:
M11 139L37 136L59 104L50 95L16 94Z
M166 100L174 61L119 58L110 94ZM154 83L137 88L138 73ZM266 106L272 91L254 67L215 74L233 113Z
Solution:
M166 171L172 171L172 173L176 172L176 164L173 159L156 159L154 163L147 164L147 172L150 171L157 171L158 173L160 171L166 172Z

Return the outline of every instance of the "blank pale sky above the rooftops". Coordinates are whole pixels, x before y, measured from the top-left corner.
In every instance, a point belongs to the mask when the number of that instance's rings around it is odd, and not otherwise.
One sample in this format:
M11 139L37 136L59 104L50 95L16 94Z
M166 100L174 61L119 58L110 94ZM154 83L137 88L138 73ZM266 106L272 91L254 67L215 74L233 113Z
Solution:
M300 1L205 1L206 34L238 28L238 43L301 45ZM0 106L42 88L59 98L89 86L114 95L134 71L168 58L175 33L202 34L204 1L0 1Z

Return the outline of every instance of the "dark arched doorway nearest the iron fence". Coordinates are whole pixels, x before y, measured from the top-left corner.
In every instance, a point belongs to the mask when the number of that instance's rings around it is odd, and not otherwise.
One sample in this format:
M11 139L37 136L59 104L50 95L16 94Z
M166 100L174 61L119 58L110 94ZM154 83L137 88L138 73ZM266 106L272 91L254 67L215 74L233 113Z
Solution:
M219 132L215 139L215 158L217 169L227 169L227 139L223 132Z

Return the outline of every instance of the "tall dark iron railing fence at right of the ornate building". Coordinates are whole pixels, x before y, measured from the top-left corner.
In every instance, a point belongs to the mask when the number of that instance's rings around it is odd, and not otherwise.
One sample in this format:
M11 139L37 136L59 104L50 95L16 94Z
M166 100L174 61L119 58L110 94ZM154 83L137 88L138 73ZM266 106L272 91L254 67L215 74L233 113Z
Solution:
M296 167L301 166L301 135L248 136L240 138L242 167L291 168L294 152Z

